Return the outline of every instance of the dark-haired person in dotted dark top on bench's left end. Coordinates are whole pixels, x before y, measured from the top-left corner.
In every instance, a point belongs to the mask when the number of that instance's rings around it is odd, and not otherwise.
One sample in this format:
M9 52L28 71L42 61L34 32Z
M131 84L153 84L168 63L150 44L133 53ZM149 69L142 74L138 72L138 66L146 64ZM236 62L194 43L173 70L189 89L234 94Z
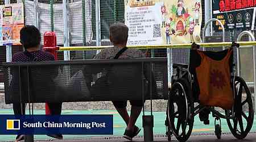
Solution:
M25 26L20 30L20 43L22 43L25 51L15 53L12 62L30 62L30 61L54 61L54 56L51 53L40 51L41 35L38 28L35 26ZM61 103L48 103L49 110L52 115L61 114ZM26 104L20 107L19 103L13 103L15 115L22 115L25 112ZM23 113L24 114L24 113ZM61 134L48 135L56 139L63 139ZM24 140L24 135L16 136L16 141Z

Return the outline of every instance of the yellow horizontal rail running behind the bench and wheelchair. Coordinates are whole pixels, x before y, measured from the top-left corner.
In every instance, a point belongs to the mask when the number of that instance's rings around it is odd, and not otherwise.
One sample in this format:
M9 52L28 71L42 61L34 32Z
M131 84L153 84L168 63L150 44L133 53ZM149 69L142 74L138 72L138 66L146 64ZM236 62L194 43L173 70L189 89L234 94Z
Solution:
M256 45L256 41L239 41L237 42L240 46L249 46ZM201 47L221 47L221 46L230 46L232 42L220 42L220 43L197 43ZM91 50L100 50L112 46L88 46L88 47L59 47L59 51L91 51ZM162 44L162 45L128 45L128 48L136 49L160 49L160 48L191 48L191 43L184 44Z

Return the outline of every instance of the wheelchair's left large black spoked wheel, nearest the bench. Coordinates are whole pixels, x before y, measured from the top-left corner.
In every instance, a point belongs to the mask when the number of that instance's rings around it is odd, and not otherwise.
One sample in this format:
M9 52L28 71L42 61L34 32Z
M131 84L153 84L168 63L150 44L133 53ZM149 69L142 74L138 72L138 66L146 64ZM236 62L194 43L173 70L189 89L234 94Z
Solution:
M193 129L192 90L186 80L180 78L171 87L168 98L168 122L179 141L186 141Z

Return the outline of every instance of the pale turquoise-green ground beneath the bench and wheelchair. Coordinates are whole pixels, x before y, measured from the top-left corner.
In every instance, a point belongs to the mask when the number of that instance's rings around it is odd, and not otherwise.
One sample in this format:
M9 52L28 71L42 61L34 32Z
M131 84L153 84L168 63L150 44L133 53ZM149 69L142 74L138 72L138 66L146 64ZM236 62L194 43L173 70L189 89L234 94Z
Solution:
M35 114L44 114L44 110L35 110ZM7 109L0 109L0 114L13 114L13 110L7 110ZM118 115L117 111L113 110L64 110L63 115L68 114L113 114L114 116L114 135L112 136L104 136L104 135L64 135L65 142L80 142L80 141L126 141L125 139L122 139L123 131L126 128L125 123L123 123L123 120ZM146 115L150 114L149 112L146 112ZM156 135L155 140L156 141L167 141L167 137L164 137L164 133L166 131L166 128L164 126L164 120L166 117L166 112L153 112L154 115L154 134ZM140 119L138 119L137 126L142 128L142 116L139 116ZM1 124L1 123L0 123ZM228 133L229 128L226 124L226 120L222 119L222 132ZM247 137L246 140L255 140L256 142L256 115L254 116L254 126L251 128L251 135ZM200 141L214 141L216 140L216 137L214 135L209 135L209 133L214 132L214 119L210 115L210 124L205 126L202 122L200 122L198 115L195 117L195 123L192 131L191 139L189 140L195 140L194 137L198 136ZM162 134L162 135L161 135ZM138 137L134 140L136 141L143 141L143 131L141 131L138 135ZM0 135L0 141L13 141L15 139L15 135ZM94 137L94 138L92 138ZM235 140L233 135L224 135L222 136L224 140ZM226 138L228 137L228 138ZM35 135L35 140L38 141L52 141L51 137L48 137L46 135ZM174 138L175 140L175 138ZM53 140L57 141L57 140ZM223 141L223 140L222 140ZM209 141L208 141L209 142Z

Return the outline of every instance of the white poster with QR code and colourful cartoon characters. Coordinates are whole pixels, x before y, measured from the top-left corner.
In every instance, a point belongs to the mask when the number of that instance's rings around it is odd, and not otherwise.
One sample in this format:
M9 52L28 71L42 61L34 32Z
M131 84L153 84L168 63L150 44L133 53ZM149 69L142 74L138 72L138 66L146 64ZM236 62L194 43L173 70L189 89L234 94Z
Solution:
M125 0L127 45L200 42L200 0Z

